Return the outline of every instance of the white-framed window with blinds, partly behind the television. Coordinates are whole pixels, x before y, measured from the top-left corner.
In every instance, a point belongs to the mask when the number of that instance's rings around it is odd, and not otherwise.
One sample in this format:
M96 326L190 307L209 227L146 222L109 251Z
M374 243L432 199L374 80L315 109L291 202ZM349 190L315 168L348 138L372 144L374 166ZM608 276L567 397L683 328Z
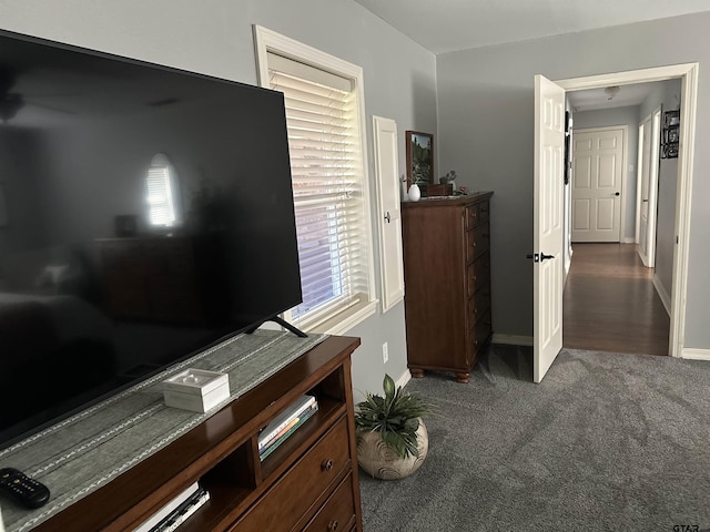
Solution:
M374 314L362 69L255 27L260 82L284 93L303 303L285 318L343 332Z

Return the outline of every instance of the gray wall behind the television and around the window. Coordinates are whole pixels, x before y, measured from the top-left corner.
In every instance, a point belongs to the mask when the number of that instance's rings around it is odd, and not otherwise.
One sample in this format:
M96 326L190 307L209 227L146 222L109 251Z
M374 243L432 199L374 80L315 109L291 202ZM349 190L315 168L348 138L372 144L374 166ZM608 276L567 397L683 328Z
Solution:
M256 84L253 23L364 69L371 180L373 114L397 122L402 172L404 131L436 131L435 55L352 0L0 3L0 27L6 30ZM374 193L374 184L372 188ZM385 371L395 379L406 371L403 304L348 334L362 338L353 359L356 392L378 391ZM387 365L382 362L384 341L389 345Z

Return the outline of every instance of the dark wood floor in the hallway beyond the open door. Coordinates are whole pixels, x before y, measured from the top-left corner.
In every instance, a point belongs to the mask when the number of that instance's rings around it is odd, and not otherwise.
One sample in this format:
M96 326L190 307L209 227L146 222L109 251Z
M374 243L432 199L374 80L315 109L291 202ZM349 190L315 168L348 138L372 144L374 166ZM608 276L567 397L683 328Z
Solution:
M633 244L574 244L564 346L668 355L670 318Z

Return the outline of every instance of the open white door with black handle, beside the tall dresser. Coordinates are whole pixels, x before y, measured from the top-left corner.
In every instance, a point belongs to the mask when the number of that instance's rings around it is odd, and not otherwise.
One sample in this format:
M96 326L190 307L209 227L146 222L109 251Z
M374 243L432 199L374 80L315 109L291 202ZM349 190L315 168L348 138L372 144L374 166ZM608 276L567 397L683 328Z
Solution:
M535 76L534 380L562 348L565 90Z

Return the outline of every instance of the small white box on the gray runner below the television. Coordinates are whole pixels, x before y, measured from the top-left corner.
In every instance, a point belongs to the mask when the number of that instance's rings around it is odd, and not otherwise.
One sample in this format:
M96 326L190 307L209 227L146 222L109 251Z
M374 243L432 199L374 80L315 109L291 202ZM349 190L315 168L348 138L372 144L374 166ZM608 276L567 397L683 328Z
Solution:
M206 412L230 397L230 376L205 369L187 369L163 381L165 405Z

